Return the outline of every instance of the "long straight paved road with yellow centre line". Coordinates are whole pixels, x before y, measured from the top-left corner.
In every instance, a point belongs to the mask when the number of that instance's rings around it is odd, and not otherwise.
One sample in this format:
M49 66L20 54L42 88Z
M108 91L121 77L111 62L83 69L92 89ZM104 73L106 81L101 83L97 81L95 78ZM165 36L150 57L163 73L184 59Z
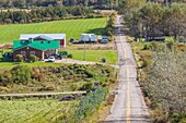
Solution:
M120 16L117 16L115 32L120 79L111 114L105 123L149 123L148 108L137 82L136 62L130 45L126 42L119 19Z

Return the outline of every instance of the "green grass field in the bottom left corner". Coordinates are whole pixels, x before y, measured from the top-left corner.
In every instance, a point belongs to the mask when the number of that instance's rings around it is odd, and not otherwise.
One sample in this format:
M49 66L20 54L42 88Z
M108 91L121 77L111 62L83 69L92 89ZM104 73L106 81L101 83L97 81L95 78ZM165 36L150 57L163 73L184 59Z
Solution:
M72 102L57 100L0 100L1 123L50 123Z

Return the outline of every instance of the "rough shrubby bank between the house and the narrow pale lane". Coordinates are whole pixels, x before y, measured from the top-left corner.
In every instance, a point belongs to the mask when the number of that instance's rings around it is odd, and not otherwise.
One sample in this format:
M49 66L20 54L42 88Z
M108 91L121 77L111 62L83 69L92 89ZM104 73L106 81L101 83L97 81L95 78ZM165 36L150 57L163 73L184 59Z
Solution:
M117 70L106 65L63 64L60 66L18 65L0 74L0 94L73 91L116 85Z

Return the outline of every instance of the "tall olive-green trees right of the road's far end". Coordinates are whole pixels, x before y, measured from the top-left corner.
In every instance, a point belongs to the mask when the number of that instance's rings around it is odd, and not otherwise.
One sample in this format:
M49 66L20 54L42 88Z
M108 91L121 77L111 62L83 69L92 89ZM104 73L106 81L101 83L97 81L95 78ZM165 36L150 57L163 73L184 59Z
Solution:
M140 37L179 36L186 35L186 4L160 4L146 0L124 0L118 10L129 34L136 39Z

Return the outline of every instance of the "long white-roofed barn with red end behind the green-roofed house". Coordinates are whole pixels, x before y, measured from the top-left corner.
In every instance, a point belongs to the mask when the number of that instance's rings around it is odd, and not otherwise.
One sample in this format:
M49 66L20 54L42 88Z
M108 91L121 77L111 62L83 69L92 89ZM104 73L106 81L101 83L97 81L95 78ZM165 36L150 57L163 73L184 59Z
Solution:
M59 40L60 47L66 47L66 34L22 34L20 40Z

